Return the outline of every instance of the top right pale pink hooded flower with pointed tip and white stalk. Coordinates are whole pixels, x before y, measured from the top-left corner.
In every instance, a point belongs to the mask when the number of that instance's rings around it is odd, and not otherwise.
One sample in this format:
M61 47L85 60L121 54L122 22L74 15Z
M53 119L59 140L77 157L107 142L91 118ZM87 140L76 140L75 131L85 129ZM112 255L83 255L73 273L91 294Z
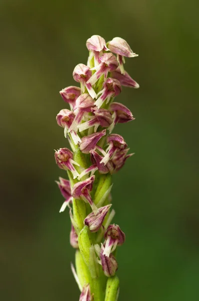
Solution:
M132 51L128 43L124 39L119 37L116 37L112 41L110 41L108 43L108 48L112 53L115 53L117 55L117 60L122 74L124 74L124 57L133 58L138 56L138 54L135 54Z

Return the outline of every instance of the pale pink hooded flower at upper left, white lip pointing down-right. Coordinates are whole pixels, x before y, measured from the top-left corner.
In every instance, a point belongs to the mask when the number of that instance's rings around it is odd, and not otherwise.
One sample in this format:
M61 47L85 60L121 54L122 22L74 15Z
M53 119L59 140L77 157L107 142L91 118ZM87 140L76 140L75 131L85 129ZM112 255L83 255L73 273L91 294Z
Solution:
M94 89L92 88L92 85L88 83L88 80L90 79L91 76L92 76L92 71L88 66L84 64L78 64L73 71L73 78L75 81L82 84L83 93L86 87L91 97L96 98L97 95Z

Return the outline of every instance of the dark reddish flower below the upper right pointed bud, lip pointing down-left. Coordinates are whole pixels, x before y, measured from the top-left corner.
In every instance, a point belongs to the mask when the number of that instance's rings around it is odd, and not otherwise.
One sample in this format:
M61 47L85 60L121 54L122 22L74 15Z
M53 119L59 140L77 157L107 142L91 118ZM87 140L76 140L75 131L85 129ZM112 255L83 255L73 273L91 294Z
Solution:
M97 96L101 96L95 101L95 105L100 108L104 101L109 102L111 97L115 97L121 93L122 87L119 80L114 78L107 78L103 83L103 89L98 93Z

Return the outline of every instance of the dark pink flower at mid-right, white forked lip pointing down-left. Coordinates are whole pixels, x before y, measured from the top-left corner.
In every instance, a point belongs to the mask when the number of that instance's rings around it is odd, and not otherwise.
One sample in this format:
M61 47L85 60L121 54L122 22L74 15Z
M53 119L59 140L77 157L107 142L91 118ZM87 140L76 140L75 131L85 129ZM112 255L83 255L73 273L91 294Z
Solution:
M126 142L124 141L123 137L118 134L111 134L107 137L107 143L109 144L107 148L107 153L102 159L100 163L104 163L105 165L108 163L109 160L112 159L114 154L117 152L118 149L124 149L127 147Z

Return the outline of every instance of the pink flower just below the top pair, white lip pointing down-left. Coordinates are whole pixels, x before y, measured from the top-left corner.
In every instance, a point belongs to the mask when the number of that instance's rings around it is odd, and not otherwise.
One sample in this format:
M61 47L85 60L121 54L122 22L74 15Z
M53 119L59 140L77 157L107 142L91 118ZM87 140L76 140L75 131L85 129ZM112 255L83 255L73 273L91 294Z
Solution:
M94 68L96 72L90 77L87 84L93 86L102 75L104 75L104 80L106 80L108 72L112 72L118 67L117 59L112 53L104 53L99 58L99 62L100 64Z

